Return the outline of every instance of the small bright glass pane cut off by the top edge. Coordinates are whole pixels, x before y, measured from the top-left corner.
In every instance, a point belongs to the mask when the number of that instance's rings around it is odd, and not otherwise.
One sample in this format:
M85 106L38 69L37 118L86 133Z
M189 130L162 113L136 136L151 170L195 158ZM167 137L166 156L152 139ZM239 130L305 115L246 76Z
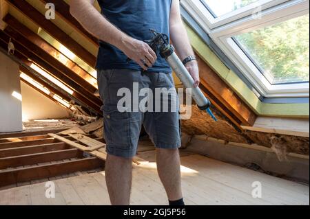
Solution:
M259 0L201 0L207 6L209 11L215 16L222 16L229 12L233 12L239 8L242 8L250 3L254 3Z

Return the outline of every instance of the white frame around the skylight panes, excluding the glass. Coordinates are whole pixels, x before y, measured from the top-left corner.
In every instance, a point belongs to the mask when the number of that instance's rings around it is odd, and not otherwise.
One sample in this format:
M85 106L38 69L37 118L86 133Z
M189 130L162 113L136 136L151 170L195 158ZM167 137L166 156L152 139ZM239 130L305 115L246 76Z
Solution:
M309 0L260 0L218 18L214 18L200 0L183 0L181 3L261 95L264 97L309 97L309 82L271 84L231 38L309 14ZM258 3L262 5L258 6ZM258 7L262 11L253 16L254 12L258 12Z

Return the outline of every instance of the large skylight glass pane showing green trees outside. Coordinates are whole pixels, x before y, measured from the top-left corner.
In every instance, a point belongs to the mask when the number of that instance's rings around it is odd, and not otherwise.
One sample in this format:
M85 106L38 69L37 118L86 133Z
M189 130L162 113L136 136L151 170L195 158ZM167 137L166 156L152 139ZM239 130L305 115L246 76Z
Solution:
M309 14L234 39L271 84L309 82Z

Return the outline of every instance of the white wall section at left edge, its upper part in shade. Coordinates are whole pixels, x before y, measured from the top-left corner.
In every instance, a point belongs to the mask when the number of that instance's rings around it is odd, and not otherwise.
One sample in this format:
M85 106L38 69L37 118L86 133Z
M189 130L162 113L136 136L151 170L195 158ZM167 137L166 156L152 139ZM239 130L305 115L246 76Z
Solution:
M0 132L23 130L21 101L12 96L21 93L19 65L0 51Z

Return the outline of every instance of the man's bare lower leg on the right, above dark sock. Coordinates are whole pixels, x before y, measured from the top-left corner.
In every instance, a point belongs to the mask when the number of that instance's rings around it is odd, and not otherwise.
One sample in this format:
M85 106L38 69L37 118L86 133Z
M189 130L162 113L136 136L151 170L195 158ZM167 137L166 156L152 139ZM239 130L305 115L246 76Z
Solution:
M165 187L168 199L183 198L180 179L180 155L178 149L156 148L157 171Z

